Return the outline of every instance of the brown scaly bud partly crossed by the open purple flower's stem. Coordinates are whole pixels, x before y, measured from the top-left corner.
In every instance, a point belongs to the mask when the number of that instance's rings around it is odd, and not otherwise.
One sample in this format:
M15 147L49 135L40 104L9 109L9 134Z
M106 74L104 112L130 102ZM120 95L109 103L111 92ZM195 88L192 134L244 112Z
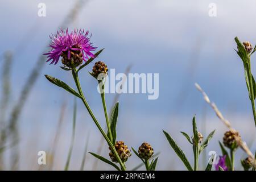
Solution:
M109 156L112 159L112 162L117 163L117 158L115 157L114 152L112 151L112 148L109 147ZM131 151L129 148L125 145L125 142L119 141L115 142L115 150L117 150L117 154L121 158L122 162L126 162L127 159L131 156Z

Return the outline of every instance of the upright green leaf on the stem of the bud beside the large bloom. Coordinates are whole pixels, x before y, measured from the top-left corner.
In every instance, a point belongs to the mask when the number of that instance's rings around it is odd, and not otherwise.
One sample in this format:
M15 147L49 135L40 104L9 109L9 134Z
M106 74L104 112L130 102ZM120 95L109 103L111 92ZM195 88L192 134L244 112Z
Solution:
M115 144L115 139L117 138L117 118L118 118L118 102L114 105L113 109L110 112L110 118L109 118L109 123L110 123L110 129L113 137L112 143ZM108 133L109 135L109 133Z

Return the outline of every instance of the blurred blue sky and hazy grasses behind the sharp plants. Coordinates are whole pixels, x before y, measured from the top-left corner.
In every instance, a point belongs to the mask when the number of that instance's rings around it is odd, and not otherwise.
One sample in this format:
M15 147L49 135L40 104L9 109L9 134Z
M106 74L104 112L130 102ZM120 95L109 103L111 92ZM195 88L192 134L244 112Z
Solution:
M46 16L38 16L45 3ZM215 3L216 15L209 16ZM192 146L179 133L192 135L192 118L204 137L216 129L200 157L200 169L208 152L221 155L218 140L226 127L195 89L198 82L222 114L240 131L255 151L255 126L246 89L243 65L234 49L234 37L256 43L256 2L246 1L4 1L0 7L0 169L63 170L71 142L73 96L53 86L45 74L75 87L70 72L45 63L49 35L60 28L84 28L94 46L105 48L97 58L116 73L159 73L159 98L146 94L106 94L108 108L119 101L117 139L129 148L147 141L160 152L158 170L182 170L183 163L168 144L162 129L174 137L193 164ZM252 70L256 74L256 57ZM80 73L85 96L105 127L97 83L87 71ZM5 130L7 128L7 130ZM86 147L87 146L87 147ZM38 164L38 151L47 152L47 165ZM79 170L85 151L109 159L108 146L77 101L75 145L70 169ZM241 150L236 169L241 169ZM141 163L134 154L127 169ZM105 163L86 155L85 170L107 169ZM143 167L139 169L144 169Z

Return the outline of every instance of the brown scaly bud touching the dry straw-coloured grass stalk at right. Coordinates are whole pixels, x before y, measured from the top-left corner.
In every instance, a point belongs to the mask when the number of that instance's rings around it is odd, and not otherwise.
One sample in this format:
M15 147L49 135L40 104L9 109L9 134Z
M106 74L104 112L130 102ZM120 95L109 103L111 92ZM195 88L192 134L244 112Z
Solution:
M238 147L237 139L241 140L240 134L237 131L226 131L223 143L226 147L234 150Z

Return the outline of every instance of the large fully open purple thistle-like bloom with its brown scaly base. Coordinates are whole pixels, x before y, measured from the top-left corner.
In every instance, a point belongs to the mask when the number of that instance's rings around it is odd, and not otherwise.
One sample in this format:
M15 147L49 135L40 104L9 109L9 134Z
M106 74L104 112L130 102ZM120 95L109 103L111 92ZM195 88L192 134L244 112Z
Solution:
M82 64L82 60L86 61L89 57L94 57L92 51L97 47L93 47L90 43L89 32L84 30L74 30L71 33L61 30L56 35L50 36L52 43L49 45L51 51L44 53L48 55L50 64L57 64L60 56L63 57L62 63L70 68L77 67Z

